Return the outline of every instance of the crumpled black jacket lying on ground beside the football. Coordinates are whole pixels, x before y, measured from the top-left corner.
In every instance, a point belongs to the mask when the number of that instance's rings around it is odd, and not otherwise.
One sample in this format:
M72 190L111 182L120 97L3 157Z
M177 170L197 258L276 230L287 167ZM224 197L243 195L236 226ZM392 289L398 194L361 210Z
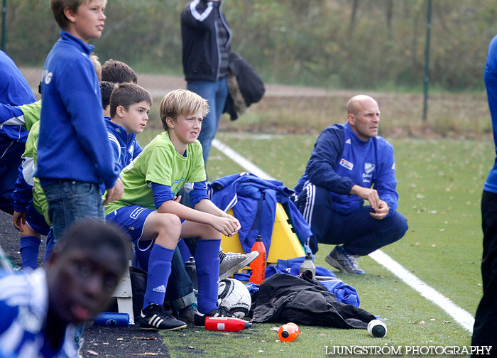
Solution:
M263 281L252 318L253 322L367 329L375 316L362 308L339 303L333 293L312 279L310 271L305 271L300 278L277 273Z

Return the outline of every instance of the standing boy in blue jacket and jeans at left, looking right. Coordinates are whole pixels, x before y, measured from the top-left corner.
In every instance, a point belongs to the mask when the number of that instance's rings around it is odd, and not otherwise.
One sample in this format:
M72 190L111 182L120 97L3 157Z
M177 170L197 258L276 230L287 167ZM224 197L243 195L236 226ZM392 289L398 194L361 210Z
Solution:
M38 165L35 176L48 200L54 240L82 217L104 219L99 184L107 202L119 199L122 183L107 139L97 75L89 60L104 28L105 0L50 0L62 31L42 75Z

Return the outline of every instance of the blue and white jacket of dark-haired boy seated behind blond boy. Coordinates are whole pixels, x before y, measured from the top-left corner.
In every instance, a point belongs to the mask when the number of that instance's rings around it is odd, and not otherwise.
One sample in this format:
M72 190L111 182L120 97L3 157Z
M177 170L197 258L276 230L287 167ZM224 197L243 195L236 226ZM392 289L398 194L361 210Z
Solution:
M128 134L126 129L119 126L119 124L115 124L111 121L110 117L105 117L105 126L107 127L107 136L109 136L116 170L119 170L119 173L121 173L121 170L131 163L143 149L138 144L138 141L136 141L136 133ZM105 192L103 184L100 185L100 191L102 193Z

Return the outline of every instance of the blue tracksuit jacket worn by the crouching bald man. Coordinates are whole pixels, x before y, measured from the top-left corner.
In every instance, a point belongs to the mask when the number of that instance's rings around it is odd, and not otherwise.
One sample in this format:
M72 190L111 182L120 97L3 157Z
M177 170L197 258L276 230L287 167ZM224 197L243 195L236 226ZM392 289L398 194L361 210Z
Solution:
M393 146L381 136L363 141L348 123L334 124L317 138L305 173L295 186L299 194L307 181L326 188L332 195L332 210L347 215L364 205L364 200L349 195L354 185L378 191L390 206L386 217L398 208Z

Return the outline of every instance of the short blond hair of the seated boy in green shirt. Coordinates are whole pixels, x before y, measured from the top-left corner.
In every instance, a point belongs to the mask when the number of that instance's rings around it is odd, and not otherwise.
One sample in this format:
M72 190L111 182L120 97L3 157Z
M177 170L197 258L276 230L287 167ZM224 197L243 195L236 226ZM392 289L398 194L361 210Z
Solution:
M202 117L207 116L209 113L207 100L187 89L176 89L169 92L159 104L160 121L165 131L169 128L165 121L166 118L171 117L176 120L178 116L189 116L199 111L202 112Z

